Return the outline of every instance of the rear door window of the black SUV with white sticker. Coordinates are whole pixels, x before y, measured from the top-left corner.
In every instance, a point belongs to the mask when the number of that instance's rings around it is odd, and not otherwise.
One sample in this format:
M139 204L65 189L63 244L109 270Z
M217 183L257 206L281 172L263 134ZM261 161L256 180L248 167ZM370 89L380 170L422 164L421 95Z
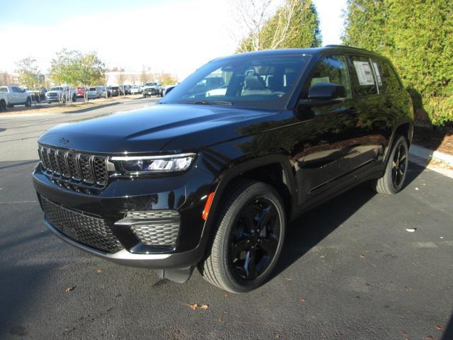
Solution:
M351 57L353 87L357 96L367 96L369 94L377 94L376 83L374 82L374 74L372 64L367 57ZM382 80L381 80L382 81Z

